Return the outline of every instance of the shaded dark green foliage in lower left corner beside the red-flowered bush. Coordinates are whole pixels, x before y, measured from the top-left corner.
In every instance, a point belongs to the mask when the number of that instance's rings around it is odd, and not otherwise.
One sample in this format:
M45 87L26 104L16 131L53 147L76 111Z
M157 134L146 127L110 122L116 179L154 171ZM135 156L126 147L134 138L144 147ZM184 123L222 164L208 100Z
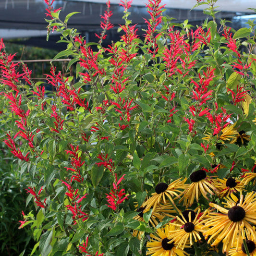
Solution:
M3 143L2 143L3 144ZM32 210L33 206L26 207L25 188L29 184L29 177L17 170L14 157L1 145L0 151L0 252L2 256L18 255L26 247L33 249L32 232L29 229L18 229L22 218L21 209Z

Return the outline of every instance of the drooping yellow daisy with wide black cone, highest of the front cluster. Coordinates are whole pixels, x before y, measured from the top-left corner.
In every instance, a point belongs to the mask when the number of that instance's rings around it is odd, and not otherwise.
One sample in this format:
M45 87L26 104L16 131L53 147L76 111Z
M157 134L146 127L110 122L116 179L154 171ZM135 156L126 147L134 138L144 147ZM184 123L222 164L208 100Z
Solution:
M217 191L213 185L213 179L202 169L192 172L189 178L192 183L183 191L183 197L179 201L179 203L183 201L186 207L192 206L195 199L198 202L201 194L208 200L207 193L214 195L213 191Z

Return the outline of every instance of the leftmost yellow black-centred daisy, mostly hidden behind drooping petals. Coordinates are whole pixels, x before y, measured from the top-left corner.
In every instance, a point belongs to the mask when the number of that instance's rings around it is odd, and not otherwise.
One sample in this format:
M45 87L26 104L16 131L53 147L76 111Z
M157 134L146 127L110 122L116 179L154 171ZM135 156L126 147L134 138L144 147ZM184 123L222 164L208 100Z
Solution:
M140 208L136 209L136 211L138 212L138 215L136 215L134 217L134 219L144 222L143 215L145 212L145 207L140 207ZM165 218L165 217L175 218L174 215L170 214L170 213L174 213L174 212L176 212L176 211L173 209L173 206L170 203L165 204L165 205L159 205L158 207L156 207L155 212L153 212L151 214L148 222L150 225L152 225L154 228L156 228L158 223L160 221L162 221L163 218ZM142 238L143 234L144 234L144 232L139 231L139 230L134 230L134 232L133 232L133 236L136 236L139 240Z

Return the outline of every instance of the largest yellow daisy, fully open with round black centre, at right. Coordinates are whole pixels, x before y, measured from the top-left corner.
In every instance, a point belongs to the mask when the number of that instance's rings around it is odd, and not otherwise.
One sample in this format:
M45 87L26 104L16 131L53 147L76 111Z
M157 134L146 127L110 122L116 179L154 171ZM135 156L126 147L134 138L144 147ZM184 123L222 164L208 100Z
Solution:
M225 198L225 208L209 203L219 212L210 212L203 227L208 229L203 233L208 238L207 243L214 240L211 245L215 246L222 242L223 253L229 252L234 246L238 250L239 241L245 239L244 231L256 239L256 232L250 224L256 224L256 193L251 192L245 197L240 195L240 199L233 194L231 197Z

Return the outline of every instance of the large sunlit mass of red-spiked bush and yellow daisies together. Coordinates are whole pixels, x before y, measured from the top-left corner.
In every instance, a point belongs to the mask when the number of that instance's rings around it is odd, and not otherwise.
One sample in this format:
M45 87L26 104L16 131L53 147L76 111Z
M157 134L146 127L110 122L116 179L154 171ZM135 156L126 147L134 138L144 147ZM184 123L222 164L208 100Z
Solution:
M120 41L108 2L97 51L48 4L76 77L54 66L54 91L1 43L5 144L29 173L34 249L52 255L252 255L255 249L255 24L174 23L148 1L144 38L121 1ZM197 4L202 4L199 3ZM248 52L241 52L241 45ZM19 65L22 72L17 73ZM87 88L90 88L87 90ZM209 203L210 202L210 203ZM254 248L253 248L254 246ZM32 252L31 254L33 254ZM253 252L254 253L254 252Z

